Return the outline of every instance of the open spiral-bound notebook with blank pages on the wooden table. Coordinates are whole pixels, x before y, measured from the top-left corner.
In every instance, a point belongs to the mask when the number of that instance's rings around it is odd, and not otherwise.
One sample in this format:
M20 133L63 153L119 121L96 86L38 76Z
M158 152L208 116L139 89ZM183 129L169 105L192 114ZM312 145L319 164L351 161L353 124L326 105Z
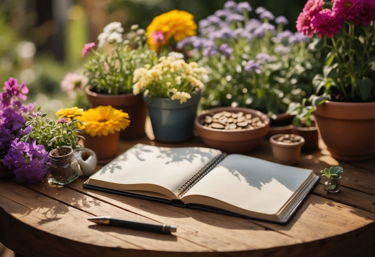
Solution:
M319 177L212 148L137 144L84 182L84 187L176 206L286 223Z

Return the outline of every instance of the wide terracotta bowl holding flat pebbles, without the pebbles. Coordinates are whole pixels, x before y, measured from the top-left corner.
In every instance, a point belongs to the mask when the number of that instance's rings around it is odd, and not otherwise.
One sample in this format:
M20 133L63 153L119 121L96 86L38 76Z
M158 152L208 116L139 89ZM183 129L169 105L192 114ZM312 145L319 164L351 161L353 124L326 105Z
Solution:
M251 114L252 117L259 117L264 126L256 127L254 130L228 130L213 129L203 126L201 123L207 115L214 115L218 112L243 112L244 115ZM240 107L220 107L203 111L194 120L195 132L202 139L203 143L227 153L245 153L256 148L270 129L270 118L263 112Z

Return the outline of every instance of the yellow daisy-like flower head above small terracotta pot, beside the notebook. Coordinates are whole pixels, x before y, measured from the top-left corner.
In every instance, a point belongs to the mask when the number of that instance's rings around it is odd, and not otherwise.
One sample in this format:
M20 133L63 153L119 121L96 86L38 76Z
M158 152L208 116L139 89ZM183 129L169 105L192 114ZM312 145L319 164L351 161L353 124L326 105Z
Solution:
M82 122L82 126L78 124L78 129L90 136L107 136L126 129L130 123L129 114L110 105L90 108L77 119Z

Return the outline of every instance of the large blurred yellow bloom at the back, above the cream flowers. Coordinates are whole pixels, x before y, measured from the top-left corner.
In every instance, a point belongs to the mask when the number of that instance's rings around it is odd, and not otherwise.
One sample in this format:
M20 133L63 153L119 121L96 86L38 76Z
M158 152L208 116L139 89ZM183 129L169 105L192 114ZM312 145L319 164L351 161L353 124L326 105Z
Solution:
M194 36L197 26L193 18L191 13L183 10L171 10L156 16L146 29L148 45L159 52L160 45L168 45L171 37L177 42L184 37Z

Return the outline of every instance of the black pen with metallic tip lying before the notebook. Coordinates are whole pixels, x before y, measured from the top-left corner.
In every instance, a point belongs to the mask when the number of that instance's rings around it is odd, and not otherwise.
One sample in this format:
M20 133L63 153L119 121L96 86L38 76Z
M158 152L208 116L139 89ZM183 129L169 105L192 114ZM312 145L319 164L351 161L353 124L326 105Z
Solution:
M99 216L87 218L87 220L95 222L101 225L110 225L115 227L126 227L127 229L138 229L148 232L164 233L169 234L171 232L176 232L177 227L174 225L166 224L153 224L144 223L138 221L123 220L119 218L111 218L109 216Z

